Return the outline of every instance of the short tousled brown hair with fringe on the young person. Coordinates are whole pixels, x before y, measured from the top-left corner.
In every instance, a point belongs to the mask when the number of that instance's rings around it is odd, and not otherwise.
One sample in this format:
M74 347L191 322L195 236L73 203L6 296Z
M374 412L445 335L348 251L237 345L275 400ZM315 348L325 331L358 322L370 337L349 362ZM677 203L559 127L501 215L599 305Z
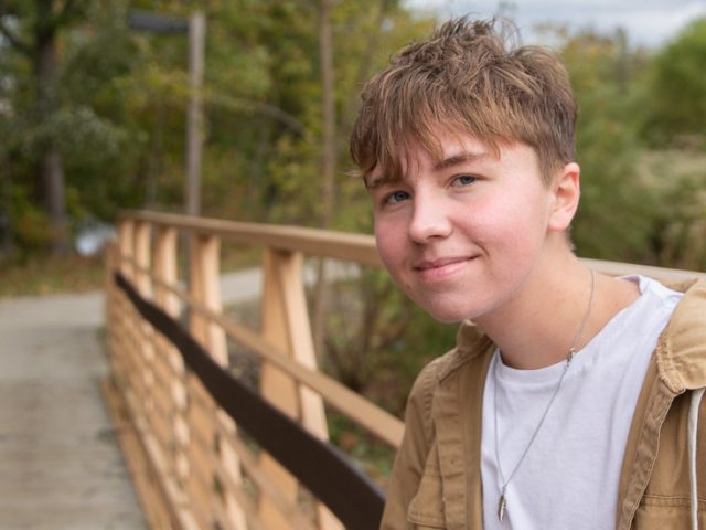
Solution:
M545 181L574 160L577 105L566 70L542 47L506 46L500 25L446 22L365 85L350 145L363 176L379 166L399 178L400 156L413 145L438 156L438 126L495 151L500 142L531 146Z

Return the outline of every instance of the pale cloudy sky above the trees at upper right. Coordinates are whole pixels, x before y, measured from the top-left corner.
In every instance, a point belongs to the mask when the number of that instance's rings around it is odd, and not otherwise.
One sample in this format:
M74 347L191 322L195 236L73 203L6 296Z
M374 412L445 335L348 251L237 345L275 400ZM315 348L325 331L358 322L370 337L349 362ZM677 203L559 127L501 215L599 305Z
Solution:
M655 47L676 35L691 20L706 17L706 0L406 0L415 9L431 10L446 19L462 14L489 18L504 3L518 25L523 42L542 43L533 26L539 22L628 31L632 45Z

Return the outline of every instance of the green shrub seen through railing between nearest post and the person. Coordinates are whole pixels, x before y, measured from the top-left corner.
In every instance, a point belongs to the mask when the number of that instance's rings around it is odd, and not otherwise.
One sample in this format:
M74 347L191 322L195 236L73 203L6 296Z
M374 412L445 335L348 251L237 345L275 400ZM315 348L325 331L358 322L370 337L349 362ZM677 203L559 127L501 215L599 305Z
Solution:
M398 415L419 370L453 347L457 326L434 321L383 271L335 284L327 314L324 369Z

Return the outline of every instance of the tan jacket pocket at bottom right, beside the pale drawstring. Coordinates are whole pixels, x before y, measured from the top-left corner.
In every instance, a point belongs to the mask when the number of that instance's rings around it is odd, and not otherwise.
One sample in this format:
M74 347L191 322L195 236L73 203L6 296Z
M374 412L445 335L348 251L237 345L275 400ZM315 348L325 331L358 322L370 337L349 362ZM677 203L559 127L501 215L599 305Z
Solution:
M698 528L706 529L706 501L698 501ZM692 505L686 497L645 495L635 511L635 530L688 530L692 528Z

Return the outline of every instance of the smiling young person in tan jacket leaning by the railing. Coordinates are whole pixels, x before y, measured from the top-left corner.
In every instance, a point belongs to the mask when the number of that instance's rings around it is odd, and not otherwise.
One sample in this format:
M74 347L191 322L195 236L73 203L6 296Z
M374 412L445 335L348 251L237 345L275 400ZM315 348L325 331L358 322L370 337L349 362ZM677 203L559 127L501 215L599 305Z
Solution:
M504 28L404 49L351 136L391 276L462 322L413 386L381 528L706 529L706 280L577 258L568 75Z

